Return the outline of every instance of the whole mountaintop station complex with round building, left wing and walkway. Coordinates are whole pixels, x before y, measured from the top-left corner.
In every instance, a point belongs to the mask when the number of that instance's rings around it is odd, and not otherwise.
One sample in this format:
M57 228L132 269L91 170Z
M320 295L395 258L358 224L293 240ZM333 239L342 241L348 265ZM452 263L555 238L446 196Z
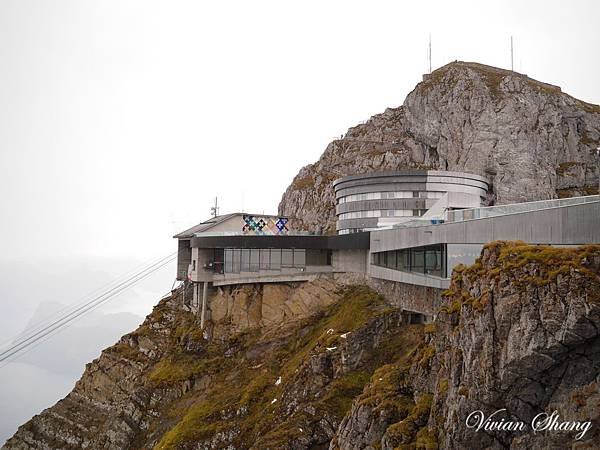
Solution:
M392 295L407 293L404 309L431 316L452 268L472 264L487 242L600 243L597 195L483 206L484 177L444 171L348 176L333 187L337 235L296 230L287 217L232 213L174 236L177 279L192 283L202 324L209 287L319 276L385 283Z

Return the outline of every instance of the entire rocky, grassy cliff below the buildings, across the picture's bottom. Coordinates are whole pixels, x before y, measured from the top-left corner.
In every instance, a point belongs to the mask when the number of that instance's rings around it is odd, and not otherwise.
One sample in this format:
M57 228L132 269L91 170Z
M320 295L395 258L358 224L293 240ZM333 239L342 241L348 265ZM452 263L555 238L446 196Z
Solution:
M433 323L329 278L213 293L202 333L182 291L88 364L4 449L594 448L600 246L492 243L453 274ZM468 414L575 432L479 432Z

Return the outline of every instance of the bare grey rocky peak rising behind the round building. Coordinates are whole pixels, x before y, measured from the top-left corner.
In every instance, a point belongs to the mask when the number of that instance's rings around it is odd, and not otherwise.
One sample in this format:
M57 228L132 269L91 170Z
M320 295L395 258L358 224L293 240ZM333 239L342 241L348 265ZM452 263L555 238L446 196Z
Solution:
M526 75L454 62L427 76L402 106L331 142L294 178L279 213L333 232L333 180L408 168L486 176L495 203L596 193L598 145L599 106Z

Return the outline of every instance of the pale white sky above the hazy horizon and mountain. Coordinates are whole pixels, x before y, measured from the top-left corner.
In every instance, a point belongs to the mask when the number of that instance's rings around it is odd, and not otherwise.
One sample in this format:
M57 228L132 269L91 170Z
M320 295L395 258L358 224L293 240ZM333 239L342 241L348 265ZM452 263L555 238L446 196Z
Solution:
M0 2L0 259L174 250L274 213L297 171L427 67L516 69L599 103L600 3Z

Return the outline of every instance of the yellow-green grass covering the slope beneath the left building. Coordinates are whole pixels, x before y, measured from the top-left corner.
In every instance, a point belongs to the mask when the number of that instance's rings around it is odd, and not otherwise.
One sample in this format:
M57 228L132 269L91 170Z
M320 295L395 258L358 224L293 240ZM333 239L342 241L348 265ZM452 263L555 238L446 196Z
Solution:
M321 314L289 324L279 332L271 330L268 338L258 330L240 333L200 353L182 349L182 345L194 339L193 327L187 328L183 320L172 336L171 357L154 367L151 381L159 388L169 389L209 374L210 382L206 389L190 391L171 404L170 417L174 423L156 448L186 448L221 431L234 436L237 444L252 441L258 448L279 448L299 437L300 429L306 430L324 417L341 420L365 385L382 375L376 371L379 366L414 357L423 338L422 325L406 325L390 332L365 356L359 369L335 376L319 388L318 397L291 394L290 389L313 382L306 379L311 373L308 367L312 355L322 355L328 352L326 348L342 345L373 320L387 320L387 315L398 314L367 287L345 288L339 294L341 300ZM247 361L246 350L260 344L261 339L282 343L266 352L260 364ZM232 348L238 351L225 357L224 350ZM373 372L379 375L372 376ZM277 382L279 377L281 383ZM392 380L389 384L390 389L397 389ZM315 413L284 413L282 408L289 404L290 395L296 401L310 404ZM412 409L411 404L412 400L406 399L404 416Z

